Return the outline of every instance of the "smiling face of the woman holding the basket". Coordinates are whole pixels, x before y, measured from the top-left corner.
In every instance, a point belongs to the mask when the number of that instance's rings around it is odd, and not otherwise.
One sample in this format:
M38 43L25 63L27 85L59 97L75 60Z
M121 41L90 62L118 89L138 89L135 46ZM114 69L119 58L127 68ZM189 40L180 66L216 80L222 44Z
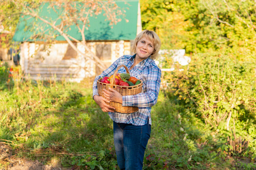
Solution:
M153 42L147 37L142 37L136 46L136 57L139 61L147 59L154 52Z

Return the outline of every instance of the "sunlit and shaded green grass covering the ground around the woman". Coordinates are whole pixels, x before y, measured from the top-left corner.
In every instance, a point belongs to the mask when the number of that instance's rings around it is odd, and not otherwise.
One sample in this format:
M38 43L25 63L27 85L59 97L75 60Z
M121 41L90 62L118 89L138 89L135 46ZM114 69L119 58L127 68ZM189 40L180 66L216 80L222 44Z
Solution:
M74 169L118 169L113 123L92 100L92 79L42 82L20 80L16 75L14 81L7 76L4 81L0 141L13 147L14 154L45 164L57 160ZM224 134L210 129L161 90L152 107L144 169L256 168L251 150L243 155L227 154Z

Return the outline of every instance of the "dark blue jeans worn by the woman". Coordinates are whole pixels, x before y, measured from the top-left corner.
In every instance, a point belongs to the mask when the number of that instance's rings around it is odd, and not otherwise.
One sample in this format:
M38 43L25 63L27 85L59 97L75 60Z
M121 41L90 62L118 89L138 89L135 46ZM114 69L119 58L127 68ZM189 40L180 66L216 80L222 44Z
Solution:
M119 168L137 170L143 167L144 152L150 138L151 125L135 126L113 121L114 144Z

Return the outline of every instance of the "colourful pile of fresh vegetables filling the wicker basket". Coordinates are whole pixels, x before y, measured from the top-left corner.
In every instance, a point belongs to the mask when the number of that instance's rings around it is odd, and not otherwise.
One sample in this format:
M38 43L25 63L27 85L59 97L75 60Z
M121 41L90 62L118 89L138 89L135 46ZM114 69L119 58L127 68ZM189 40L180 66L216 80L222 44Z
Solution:
M113 79L113 76L105 76L104 78L100 79L100 82L102 83L108 83L110 84L111 80ZM141 83L141 80L138 80L134 76L130 76L129 73L117 73L114 78L114 84L118 86L135 86Z

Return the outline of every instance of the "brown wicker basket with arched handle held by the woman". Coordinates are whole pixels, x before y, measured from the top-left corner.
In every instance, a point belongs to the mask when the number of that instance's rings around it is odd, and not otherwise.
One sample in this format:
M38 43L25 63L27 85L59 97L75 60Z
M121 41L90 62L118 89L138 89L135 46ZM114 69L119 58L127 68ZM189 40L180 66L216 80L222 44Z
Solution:
M126 73L129 73L129 70L127 69L127 67L125 65L120 65L117 67L117 70L115 70L113 79L110 82L110 84L102 83L102 82L100 82L100 80L97 81L98 94L100 96L104 97L102 91L104 89L108 90L109 88L113 88L114 90L118 91L122 96L137 95L142 92L142 81L141 81L141 83L139 83L138 85L135 85L135 86L118 86L118 85L114 84L115 75L117 75L117 71L121 67L125 67ZM110 101L110 103L108 103L108 104L115 108L115 110L114 110L115 112L119 112L119 113L134 113L139 110L139 108L137 108L137 107L123 107L122 104L113 102L113 101Z

